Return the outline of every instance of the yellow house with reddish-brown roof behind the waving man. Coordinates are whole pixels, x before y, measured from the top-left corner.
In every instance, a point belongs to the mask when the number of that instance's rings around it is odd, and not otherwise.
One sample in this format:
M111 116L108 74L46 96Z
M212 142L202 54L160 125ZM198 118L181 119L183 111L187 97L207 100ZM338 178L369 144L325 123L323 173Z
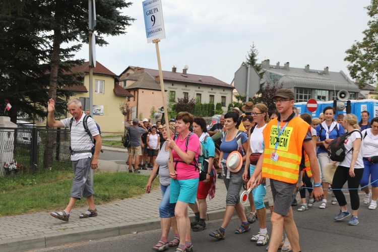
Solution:
M72 69L76 73L84 73L84 85L66 86L63 89L75 93L70 98L78 98L82 102L83 110L89 113L89 62ZM134 97L129 91L116 83L117 75L105 68L98 61L93 68L93 118L100 125L101 132L123 133L125 117L119 110L119 105ZM72 115L68 112L67 117Z

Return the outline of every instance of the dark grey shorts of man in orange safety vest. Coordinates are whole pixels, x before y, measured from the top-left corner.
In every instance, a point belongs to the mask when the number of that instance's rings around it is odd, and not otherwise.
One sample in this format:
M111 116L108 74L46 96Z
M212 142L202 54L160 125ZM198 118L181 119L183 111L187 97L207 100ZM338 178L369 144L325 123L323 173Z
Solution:
M293 201L293 192L296 184L289 184L286 182L270 179L270 186L272 189L274 206L273 212L286 216L291 208Z

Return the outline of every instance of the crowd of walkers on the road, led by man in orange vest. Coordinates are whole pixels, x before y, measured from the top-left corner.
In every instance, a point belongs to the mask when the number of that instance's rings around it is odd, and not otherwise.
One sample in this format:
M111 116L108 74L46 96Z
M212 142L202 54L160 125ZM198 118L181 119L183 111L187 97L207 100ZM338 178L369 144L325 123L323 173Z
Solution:
M240 226L234 227L233 233L250 231L250 224L258 220L259 230L251 235L250 241L258 246L269 243L269 251L300 251L292 206L298 206L294 210L303 212L316 201L320 209L327 208L329 203L338 204L340 210L335 213L334 220L342 221L351 216L348 224L357 225L358 190L362 190L365 192L363 203L368 209L376 209L378 117L369 121L369 113L362 111L362 119L358 122L353 114L336 117L335 109L328 106L319 118L312 118L308 113L298 113L293 106L294 95L288 89L278 90L273 99L276 111L268 111L263 103L248 102L242 107L245 113L231 107L231 111L222 115L221 122L211 129L204 118L188 112L178 113L168 123L168 128L167 124L160 126L160 138L163 138L160 141L166 141L157 148L160 151L156 160L151 161L153 171L146 185L146 192L150 193L151 184L159 175L162 235L153 250L176 247L179 252L193 251L191 231L206 229L206 198L215 197L217 179L223 179L227 189L226 208L221 225L209 235L218 240L225 239L236 211ZM167 139L167 129L170 130L170 139ZM217 133L219 146L211 138ZM329 146L343 135L345 158L340 162L332 161ZM203 148L208 154L204 167L199 165ZM155 145L150 149L155 149ZM170 150L173 161L169 159ZM201 181L199 170L206 173ZM329 178L329 173L333 177ZM343 193L346 182L351 212ZM250 192L247 192L245 203L250 211L245 213L240 193L248 189ZM299 203L296 203L297 192L300 193ZM331 195L330 202L328 194ZM267 228L266 196L272 230ZM192 222L188 207L195 213ZM170 227L174 237L168 241Z

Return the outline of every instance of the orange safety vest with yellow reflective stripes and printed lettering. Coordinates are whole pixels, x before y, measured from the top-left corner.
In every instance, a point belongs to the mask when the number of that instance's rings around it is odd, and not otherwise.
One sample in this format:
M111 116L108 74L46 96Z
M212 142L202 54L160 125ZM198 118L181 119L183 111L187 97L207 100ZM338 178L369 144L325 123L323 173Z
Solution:
M280 122L280 128L286 124ZM271 120L263 131L264 135L264 161L262 176L278 181L294 184L298 181L299 165L302 159L302 145L304 137L310 130L310 126L299 116L292 118L284 132L281 134L277 150L278 129L277 118ZM278 160L274 161L271 156L276 152Z

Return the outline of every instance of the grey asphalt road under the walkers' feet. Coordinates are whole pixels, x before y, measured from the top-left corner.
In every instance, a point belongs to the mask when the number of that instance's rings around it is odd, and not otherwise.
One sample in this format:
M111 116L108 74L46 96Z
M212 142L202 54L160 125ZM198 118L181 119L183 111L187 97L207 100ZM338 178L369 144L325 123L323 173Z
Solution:
M349 201L348 201L349 202ZM293 208L296 210L296 208ZM335 222L338 206L329 206L325 210L314 207L305 212L294 212L295 222L300 233L302 251L377 251L378 237L376 226L378 224L377 212L367 210L361 206L360 224L348 226L348 221ZM268 214L267 227L272 226ZM215 241L209 233L218 228L221 220L207 222L207 229L202 232L192 232L195 251L266 251L266 246L257 246L249 241L251 235L258 232L258 222L251 225L251 231L244 234L234 234L233 230L239 225L237 217L233 217L224 240ZM122 235L88 242L35 250L46 251L152 251L152 246L160 239L160 230L145 231L136 234ZM173 233L170 232L169 238ZM169 248L168 251L174 251Z

